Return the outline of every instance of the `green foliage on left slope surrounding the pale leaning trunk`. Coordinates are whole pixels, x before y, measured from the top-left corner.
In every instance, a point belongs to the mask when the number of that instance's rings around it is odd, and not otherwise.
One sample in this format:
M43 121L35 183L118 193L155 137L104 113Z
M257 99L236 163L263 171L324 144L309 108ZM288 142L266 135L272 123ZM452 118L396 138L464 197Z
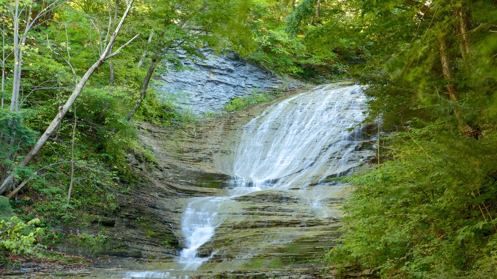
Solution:
M17 2L27 12L21 12L13 20ZM127 163L129 153L138 154L150 164L154 162L153 155L137 141L134 125L127 118L142 96L145 98L134 115L137 120L170 125L196 119L188 111L179 111L169 96L158 97L152 88L143 95L149 67L154 61L166 61L158 66L158 73L181 70L178 53L173 50L180 50L196 61L202 59L197 48L205 44L248 53L253 48L246 24L250 2L135 1L114 50L137 33L143 39L153 31L150 43L146 39L135 40L122 49L121 55L102 65L32 165L19 168L17 164L23 154L102 52L107 26L109 30L115 27L117 21L113 15L118 18L124 7L124 1L60 1L61 5L50 13L43 14L36 22L30 21L29 16L36 16L50 3L19 0L0 4L3 42L0 182L9 173L16 174L13 186L27 182L12 203L18 214L31 218L43 216L50 224L80 222L84 226L85 211L112 212L118 207L118 197L129 193L137 179ZM19 23L21 36L26 35L26 43L20 47L24 54L22 64L15 62L14 55L9 53L15 50L13 22ZM33 27L23 33L30 22ZM190 32L192 28L202 28L203 32ZM23 95L18 108L12 109L8 103L15 87L14 68L19 65L22 65L19 86ZM74 189L71 203L67 204L73 154Z

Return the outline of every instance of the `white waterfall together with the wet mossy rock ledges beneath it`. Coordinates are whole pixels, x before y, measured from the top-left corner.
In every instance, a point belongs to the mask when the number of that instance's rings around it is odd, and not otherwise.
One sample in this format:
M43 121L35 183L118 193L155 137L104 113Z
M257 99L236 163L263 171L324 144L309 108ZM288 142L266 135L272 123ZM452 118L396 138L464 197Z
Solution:
M347 191L330 178L371 155L360 125L364 101L360 86L323 85L267 107L227 134L210 165L231 179L184 200L184 248L172 261L122 276L320 277L310 260L334 245Z

